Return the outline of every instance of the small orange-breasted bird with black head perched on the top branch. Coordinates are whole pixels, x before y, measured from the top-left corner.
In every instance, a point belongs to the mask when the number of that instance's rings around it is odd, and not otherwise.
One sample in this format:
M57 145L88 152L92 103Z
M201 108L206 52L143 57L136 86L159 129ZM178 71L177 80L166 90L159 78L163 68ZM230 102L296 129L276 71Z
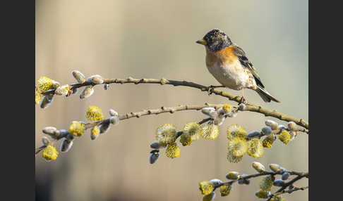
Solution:
M241 90L242 102L246 101L243 97L243 89L252 89L266 103L270 103L271 100L280 103L267 92L253 63L243 49L234 44L222 30L213 29L196 43L205 46L207 70L222 84L222 86L211 85L210 88L227 87L237 91Z

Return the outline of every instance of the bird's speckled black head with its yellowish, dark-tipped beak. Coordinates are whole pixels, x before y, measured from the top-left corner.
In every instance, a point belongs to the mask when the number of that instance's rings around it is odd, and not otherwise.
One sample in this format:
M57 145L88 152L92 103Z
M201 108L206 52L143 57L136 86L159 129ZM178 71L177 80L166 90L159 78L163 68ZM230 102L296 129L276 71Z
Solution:
M196 41L198 44L203 44L212 52L221 51L232 44L231 40L221 30L214 29L205 34L203 39Z

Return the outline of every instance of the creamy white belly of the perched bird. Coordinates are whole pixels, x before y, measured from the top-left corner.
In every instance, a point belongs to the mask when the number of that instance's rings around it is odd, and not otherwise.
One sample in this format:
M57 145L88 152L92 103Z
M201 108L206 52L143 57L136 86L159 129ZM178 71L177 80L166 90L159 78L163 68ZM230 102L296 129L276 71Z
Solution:
M220 84L230 89L241 90L242 88L250 88L255 85L255 79L251 79L249 74L244 73L246 69L241 66L239 60L225 65L220 62L214 62L207 65L207 69Z

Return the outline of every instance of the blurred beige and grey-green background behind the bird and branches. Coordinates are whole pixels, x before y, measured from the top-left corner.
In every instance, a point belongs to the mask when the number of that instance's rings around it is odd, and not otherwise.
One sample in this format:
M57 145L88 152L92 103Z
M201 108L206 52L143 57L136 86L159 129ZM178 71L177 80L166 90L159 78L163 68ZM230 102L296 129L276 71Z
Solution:
M35 17L36 79L47 76L72 84L72 70L80 70L86 77L164 77L217 85L205 66L205 48L195 41L219 28L246 51L267 91L282 103L264 103L251 90L245 91L246 99L308 121L308 1L36 1ZM35 147L41 145L43 127L68 129L73 120L85 121L89 105L97 105L108 117L110 108L123 114L203 103L236 105L182 86L112 84L109 91L95 86L88 99L58 96L45 110L35 106ZM156 164L148 163L157 127L172 123L181 130L183 124L203 118L200 111L132 118L95 141L86 131L57 160L36 157L36 200L202 200L199 181L225 181L228 171L253 174L253 161L308 171L306 134L288 145L276 141L259 159L246 155L238 164L227 161L227 127L240 124L247 131L260 129L266 117L254 112L227 119L215 141L181 146L180 157L173 160L162 150ZM218 191L215 200L258 200L254 193L259 182L253 179L249 186L234 185L229 197L220 197ZM307 184L306 179L297 183ZM284 198L308 200L308 190Z

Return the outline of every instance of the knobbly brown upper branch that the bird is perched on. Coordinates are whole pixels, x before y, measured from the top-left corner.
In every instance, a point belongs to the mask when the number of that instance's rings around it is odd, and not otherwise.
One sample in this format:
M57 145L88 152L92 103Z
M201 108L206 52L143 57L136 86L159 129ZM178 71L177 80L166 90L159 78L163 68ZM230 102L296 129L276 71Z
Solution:
M172 79L146 79L146 78L142 78L142 79L135 79L132 77L128 77L128 79L104 79L104 83L103 84L128 84L128 83L133 83L133 84L169 84L169 85L173 85L173 86L188 86L191 88L195 88L195 89L200 89L200 91L211 91L212 93L214 93L215 95L218 96L223 96L228 98L229 100L233 100L237 103L241 103L241 97L240 96L233 96L230 93L227 93L226 91L221 91L218 89L211 89L210 86L205 86L205 85L201 85L201 84L196 84L194 82L188 82L188 81L179 81L179 80L172 80ZM83 84L71 84L71 86L73 88L80 88L82 86L95 86L97 84L94 84L92 82L85 82ZM45 94L51 94L54 93L54 89L53 90L49 90L46 91ZM297 119L295 117L291 117L289 115L284 115L280 112L277 112L276 110L268 110L266 108L262 108L261 106L258 105L253 105L252 103L246 103L246 108L244 109L245 111L250 111L250 112L258 112L261 113L263 115L265 115L265 117L275 117L277 119L283 120L283 121L287 121L287 122L295 122L296 124L298 124L301 127L304 127L303 132L306 132L308 134L308 122L304 121L303 119Z

